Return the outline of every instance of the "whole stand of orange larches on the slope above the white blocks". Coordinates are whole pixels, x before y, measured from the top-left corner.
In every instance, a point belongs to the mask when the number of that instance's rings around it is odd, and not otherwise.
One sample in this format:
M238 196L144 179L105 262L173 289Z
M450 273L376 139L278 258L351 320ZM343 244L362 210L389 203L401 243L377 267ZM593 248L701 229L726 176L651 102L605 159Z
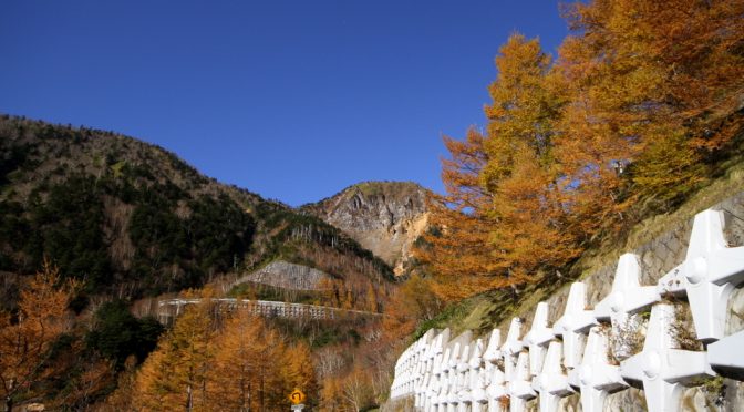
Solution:
M440 297L560 279L588 250L675 210L744 144L744 1L565 8L557 58L512 35L487 127L445 137L446 195L416 250Z

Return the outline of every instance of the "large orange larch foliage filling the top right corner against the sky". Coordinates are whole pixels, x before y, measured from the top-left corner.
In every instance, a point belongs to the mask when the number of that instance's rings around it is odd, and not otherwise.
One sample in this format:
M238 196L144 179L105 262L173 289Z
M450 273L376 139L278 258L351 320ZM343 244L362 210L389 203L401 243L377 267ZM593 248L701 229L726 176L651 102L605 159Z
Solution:
M588 234L679 202L741 131L744 1L597 0L566 10L561 162ZM577 219L579 222L579 219Z

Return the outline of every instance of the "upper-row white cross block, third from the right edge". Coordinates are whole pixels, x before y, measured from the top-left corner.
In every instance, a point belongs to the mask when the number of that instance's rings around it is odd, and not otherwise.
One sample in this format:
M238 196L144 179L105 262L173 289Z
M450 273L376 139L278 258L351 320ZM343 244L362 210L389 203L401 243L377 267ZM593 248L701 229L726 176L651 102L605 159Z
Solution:
M593 310L587 310L587 291L583 282L571 285L564 316L554 323L552 331L564 339L564 365L577 368L581 362L583 342L589 328L597 325Z

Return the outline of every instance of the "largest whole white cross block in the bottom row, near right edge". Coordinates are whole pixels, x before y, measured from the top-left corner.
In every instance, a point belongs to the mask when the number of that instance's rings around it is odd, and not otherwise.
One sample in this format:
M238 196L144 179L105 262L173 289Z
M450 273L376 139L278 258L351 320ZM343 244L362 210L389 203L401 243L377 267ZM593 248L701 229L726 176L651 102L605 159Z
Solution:
M678 411L682 387L679 382L701 375L715 375L705 352L672 349L670 334L674 307L666 303L651 309L643 351L620 363L624 379L643 382L645 403L650 412Z

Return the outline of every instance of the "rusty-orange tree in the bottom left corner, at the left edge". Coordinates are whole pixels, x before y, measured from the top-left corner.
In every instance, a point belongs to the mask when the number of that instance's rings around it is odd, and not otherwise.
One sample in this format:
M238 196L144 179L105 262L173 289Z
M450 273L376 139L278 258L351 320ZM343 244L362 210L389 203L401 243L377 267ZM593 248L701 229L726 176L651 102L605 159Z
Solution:
M16 398L55 371L46 365L51 348L69 330L68 306L78 284L60 284L59 268L44 260L42 270L20 292L18 312L0 312L0 380L4 410Z

